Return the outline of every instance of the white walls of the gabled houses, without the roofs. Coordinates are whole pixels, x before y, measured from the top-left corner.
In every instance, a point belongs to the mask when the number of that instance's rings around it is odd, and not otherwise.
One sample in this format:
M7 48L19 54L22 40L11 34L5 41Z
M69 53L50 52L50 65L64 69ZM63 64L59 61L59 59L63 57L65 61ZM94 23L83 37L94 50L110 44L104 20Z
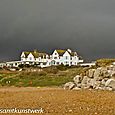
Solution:
M83 60L79 60L78 56L71 56L70 53L68 53L68 51L66 51L63 54L63 56L59 56L56 50L54 50L54 52L50 56L50 59L48 55L45 58L38 57L35 59L32 53L30 53L28 57L25 58L25 54L23 52L21 55L21 60L25 62L40 62L40 63L46 62L45 66L50 66L51 64L52 65L64 64L64 65L71 66L71 65L77 65L79 62L83 62ZM54 64L52 63L53 61L54 61Z

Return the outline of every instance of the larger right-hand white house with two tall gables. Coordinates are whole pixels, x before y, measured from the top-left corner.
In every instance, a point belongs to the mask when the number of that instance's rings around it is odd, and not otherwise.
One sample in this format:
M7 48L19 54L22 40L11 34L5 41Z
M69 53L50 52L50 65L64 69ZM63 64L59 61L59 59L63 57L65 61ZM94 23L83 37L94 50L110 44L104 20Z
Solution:
M77 65L80 62L83 62L82 59L78 56L77 52L73 52L70 49L67 50L54 50L51 55L51 64L52 65Z

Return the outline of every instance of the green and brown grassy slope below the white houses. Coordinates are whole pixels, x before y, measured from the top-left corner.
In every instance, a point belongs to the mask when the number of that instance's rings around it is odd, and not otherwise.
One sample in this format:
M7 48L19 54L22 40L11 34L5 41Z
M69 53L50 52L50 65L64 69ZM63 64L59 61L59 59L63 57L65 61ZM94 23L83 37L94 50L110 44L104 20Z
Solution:
M63 86L66 82L72 81L77 74L84 73L86 69L82 67L50 67L37 72L0 72L0 85L16 87Z

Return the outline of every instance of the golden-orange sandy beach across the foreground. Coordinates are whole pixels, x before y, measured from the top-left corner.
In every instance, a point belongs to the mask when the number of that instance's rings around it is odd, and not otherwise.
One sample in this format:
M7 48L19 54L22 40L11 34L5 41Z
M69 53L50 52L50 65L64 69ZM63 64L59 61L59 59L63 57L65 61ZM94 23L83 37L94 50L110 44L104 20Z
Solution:
M48 87L3 87L0 88L0 108L42 108L44 115L114 115L115 93Z

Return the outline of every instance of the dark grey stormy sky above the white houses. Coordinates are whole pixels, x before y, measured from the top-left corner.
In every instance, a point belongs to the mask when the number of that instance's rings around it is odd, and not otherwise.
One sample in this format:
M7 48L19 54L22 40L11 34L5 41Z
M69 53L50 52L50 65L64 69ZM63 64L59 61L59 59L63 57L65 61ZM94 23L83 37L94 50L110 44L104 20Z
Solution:
M115 0L0 0L0 60L55 48L115 58Z

